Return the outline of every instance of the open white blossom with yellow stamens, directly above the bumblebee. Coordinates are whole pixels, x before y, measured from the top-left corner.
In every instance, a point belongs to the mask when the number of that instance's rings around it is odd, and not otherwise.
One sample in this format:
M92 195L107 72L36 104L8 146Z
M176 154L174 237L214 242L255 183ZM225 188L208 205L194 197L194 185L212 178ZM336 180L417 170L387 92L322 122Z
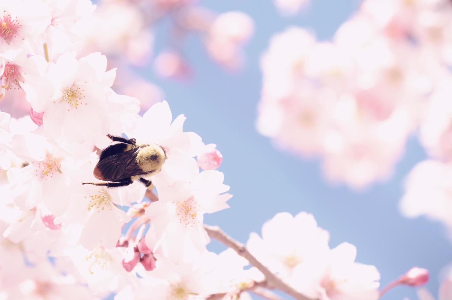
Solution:
M109 133L112 116L106 96L115 69L106 72L106 67L107 59L100 53L80 60L75 53L65 53L50 64L47 81L30 83L27 99L33 111L44 112L42 126L48 137L64 135L83 142Z

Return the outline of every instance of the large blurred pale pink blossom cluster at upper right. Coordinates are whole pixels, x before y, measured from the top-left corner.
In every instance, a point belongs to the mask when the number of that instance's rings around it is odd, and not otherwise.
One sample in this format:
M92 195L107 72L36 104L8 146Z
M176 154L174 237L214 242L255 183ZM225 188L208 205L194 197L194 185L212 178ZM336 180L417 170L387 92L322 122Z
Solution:
M418 128L444 159L451 16L448 0L364 0L331 41L297 27L277 34L261 59L257 128L355 189L387 179Z

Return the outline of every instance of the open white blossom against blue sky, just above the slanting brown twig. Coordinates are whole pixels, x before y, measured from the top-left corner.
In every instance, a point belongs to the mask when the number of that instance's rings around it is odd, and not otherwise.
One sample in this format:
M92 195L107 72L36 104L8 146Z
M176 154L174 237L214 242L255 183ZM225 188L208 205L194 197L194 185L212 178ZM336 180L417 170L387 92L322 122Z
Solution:
M288 230L296 230L296 237L281 234ZM322 269L330 251L329 239L328 231L318 227L311 214L300 212L292 217L280 212L262 226L262 238L253 232L246 246L270 270L292 280L296 269L314 273Z

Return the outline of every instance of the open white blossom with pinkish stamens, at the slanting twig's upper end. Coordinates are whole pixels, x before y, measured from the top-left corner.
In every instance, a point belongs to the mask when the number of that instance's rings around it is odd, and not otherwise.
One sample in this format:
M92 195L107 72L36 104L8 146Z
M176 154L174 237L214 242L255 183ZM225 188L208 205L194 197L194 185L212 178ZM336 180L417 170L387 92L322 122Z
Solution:
M189 255L192 248L202 252L210 240L202 226L203 215L228 208L226 201L232 197L222 194L229 190L223 178L221 172L202 171L188 182L157 186L159 201L146 208L146 216L151 220L147 245L160 248L174 262L181 261L184 254ZM154 234L160 246L155 245Z

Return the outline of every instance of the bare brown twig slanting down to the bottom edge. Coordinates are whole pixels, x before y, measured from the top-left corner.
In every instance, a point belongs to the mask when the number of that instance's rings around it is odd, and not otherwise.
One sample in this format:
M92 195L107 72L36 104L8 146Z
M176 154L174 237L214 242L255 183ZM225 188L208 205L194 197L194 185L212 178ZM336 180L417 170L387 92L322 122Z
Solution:
M220 229L218 226L209 226L204 225L204 229L207 231L207 234L221 242L223 245L233 249L237 254L246 258L251 265L258 268L262 274L264 274L265 278L268 282L269 289L278 289L287 295L291 295L293 298L297 300L311 300L304 295L301 295L298 291L296 291L292 286L289 286L287 283L283 282L281 278L273 274L267 267L265 267L257 258L253 256L253 254L245 248L245 245L240 242L234 240L229 235L227 235L224 231Z

